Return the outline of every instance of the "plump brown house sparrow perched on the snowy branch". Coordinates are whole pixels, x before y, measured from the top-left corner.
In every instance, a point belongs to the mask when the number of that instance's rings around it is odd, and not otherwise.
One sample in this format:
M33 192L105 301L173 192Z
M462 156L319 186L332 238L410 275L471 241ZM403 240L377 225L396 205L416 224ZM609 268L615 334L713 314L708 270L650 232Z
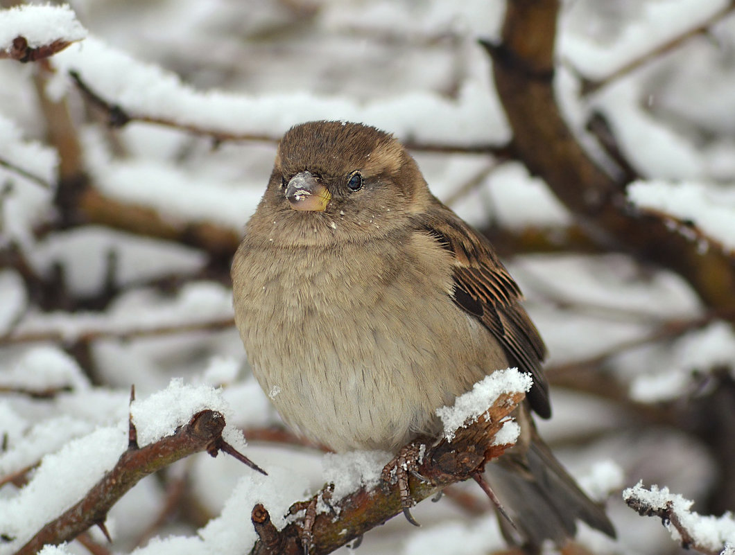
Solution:
M232 285L255 377L286 424L334 451L437 437L438 407L496 369L531 373L519 442L488 466L515 539L562 544L578 519L614 534L537 435L531 410L551 416L545 347L518 286L392 135L334 121L287 131Z

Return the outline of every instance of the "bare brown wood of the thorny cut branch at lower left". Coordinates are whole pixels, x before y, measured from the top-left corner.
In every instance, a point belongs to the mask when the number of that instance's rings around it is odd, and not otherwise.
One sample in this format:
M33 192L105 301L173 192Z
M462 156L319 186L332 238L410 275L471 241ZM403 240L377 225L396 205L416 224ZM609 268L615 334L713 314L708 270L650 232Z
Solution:
M90 526L104 524L107 512L130 488L148 474L176 460L207 451L212 456L227 445L222 439L224 417L214 410L202 410L186 426L155 443L127 449L111 471L87 492L85 498L60 517L47 523L15 555L35 554L43 545L59 545L73 540Z

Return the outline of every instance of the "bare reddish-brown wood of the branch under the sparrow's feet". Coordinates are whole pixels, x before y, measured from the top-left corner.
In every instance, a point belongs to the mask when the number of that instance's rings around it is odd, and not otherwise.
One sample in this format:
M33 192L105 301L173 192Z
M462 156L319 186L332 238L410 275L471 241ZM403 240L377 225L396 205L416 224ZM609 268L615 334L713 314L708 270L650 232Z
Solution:
M487 461L500 456L509 446L494 446L493 438L523 398L523 393L499 396L486 413L487 417L481 417L467 428L460 428L453 441L442 439L431 447L418 469L419 474L428 481L409 476L414 501L434 496L448 485L469 479L475 471L484 468ZM329 486L310 501L297 506L314 504L328 491ZM384 493L381 486L369 490L361 488L340 501L330 500L329 504L337 510L339 518L324 513L316 515L310 534L310 555L329 554L403 512L397 484L390 485L388 493ZM301 547L301 538L304 537L301 521L290 523L277 531L262 506L253 509L252 520L260 538L252 555L304 553Z

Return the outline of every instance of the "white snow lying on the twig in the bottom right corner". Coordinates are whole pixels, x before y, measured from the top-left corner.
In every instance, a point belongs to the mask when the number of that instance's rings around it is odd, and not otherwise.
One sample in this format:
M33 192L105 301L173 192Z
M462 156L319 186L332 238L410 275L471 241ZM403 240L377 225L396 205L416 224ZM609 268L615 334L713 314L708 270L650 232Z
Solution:
M642 481L634 487L623 490L623 500L632 499L642 501L642 504L653 509L670 508L684 529L701 548L720 551L725 548L725 543L735 543L735 519L731 512L726 512L720 517L699 515L691 510L694 501L689 501L678 493L671 493L668 487L651 485L647 489L643 486ZM670 521L664 522L664 526L671 533L673 540L681 540L678 531Z

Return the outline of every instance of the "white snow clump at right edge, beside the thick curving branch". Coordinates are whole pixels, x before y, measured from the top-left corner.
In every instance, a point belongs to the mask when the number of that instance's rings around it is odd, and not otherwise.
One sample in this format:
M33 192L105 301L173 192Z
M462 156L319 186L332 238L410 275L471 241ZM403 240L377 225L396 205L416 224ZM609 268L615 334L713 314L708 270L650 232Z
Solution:
M679 220L691 220L703 233L735 250L735 189L714 188L701 183L636 181L628 186L628 199L639 208L663 211ZM684 236L685 225L672 222Z

